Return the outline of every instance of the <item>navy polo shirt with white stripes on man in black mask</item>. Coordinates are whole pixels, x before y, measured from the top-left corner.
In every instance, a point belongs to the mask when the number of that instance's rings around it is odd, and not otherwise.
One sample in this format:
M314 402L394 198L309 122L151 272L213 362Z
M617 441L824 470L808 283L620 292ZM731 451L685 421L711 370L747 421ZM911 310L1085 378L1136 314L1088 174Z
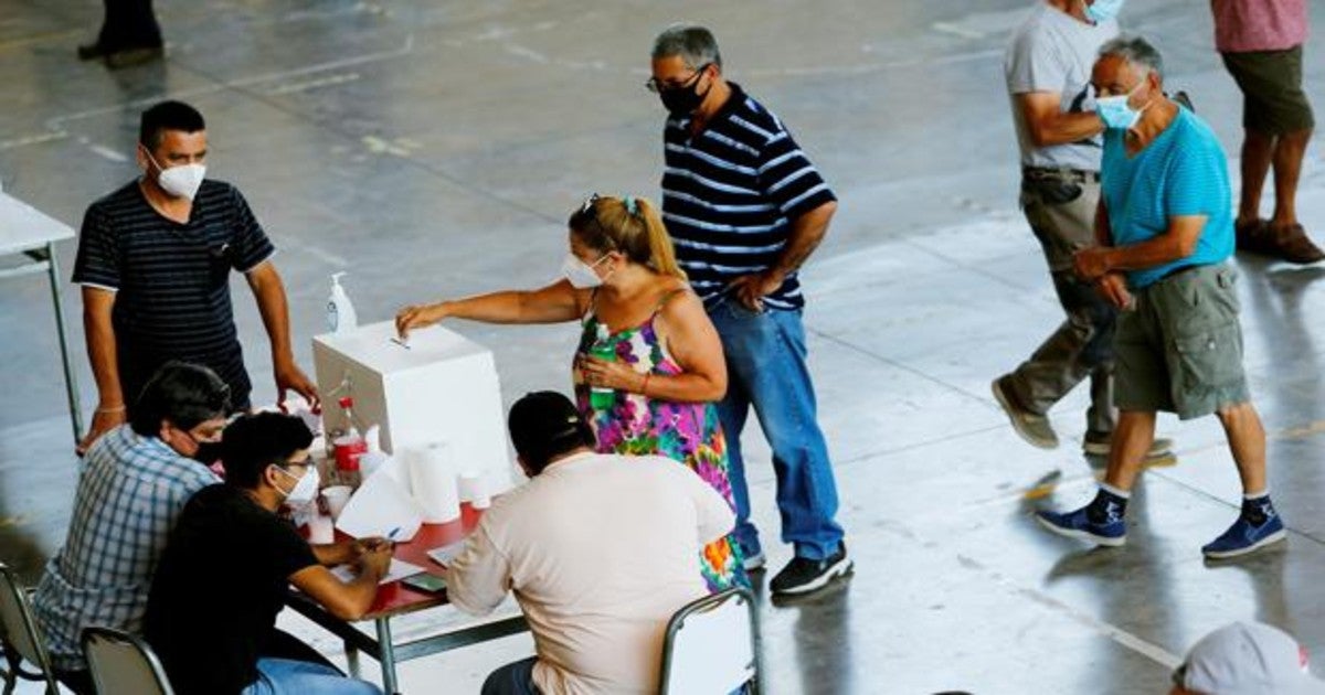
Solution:
M731 281L776 263L792 220L836 200L782 120L729 85L731 97L698 135L690 136L690 116L668 118L662 132L662 220L709 306ZM804 306L796 274L765 304Z

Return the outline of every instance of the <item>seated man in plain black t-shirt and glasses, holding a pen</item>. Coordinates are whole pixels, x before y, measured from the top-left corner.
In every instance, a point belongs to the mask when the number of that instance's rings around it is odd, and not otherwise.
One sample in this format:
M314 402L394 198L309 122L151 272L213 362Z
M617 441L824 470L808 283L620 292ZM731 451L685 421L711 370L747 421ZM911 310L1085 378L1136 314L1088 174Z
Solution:
M325 663L266 657L276 616L294 584L342 620L372 605L391 564L391 543L366 539L309 545L276 511L307 504L318 490L313 436L295 416L244 416L225 429L224 485L184 506L147 600L144 633L180 695L284 692L378 694ZM355 563L343 582L329 565Z

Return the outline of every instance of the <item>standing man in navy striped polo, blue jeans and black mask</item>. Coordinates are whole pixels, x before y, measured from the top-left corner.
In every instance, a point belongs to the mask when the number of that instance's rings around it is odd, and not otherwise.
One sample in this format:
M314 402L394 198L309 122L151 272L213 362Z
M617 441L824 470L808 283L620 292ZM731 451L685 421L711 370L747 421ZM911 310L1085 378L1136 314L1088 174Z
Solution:
M648 87L664 128L662 218L727 360L718 413L726 430L737 539L763 565L750 523L741 430L750 406L772 447L782 537L795 557L774 593L819 589L851 569L828 446L815 416L796 271L828 230L837 199L782 122L722 74L713 34L668 28L653 44Z

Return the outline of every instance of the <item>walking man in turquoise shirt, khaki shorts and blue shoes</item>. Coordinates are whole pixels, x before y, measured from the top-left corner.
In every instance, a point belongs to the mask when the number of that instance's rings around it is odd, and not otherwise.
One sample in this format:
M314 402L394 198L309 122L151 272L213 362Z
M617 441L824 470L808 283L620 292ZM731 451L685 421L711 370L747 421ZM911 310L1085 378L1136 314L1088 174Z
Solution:
M1216 414L1243 485L1242 514L1207 557L1246 555L1284 539L1265 482L1265 430L1242 367L1228 163L1210 127L1163 94L1159 53L1143 38L1100 49L1092 85L1108 127L1096 214L1098 246L1077 274L1124 311L1114 355L1118 425L1094 500L1040 511L1056 533L1121 545L1129 491L1154 440L1155 413Z

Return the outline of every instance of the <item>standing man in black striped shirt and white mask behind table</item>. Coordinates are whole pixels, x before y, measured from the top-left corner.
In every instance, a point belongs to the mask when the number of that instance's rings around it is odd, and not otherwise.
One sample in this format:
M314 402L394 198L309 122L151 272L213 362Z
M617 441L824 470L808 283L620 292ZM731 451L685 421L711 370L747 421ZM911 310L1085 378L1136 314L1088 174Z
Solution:
M204 180L203 115L182 102L143 111L138 165L143 176L93 203L83 216L73 279L82 285L87 357L99 401L85 451L126 421L126 404L164 363L216 372L236 409L252 384L235 330L229 274L244 274L272 343L277 396L294 389L317 402L294 363L285 287L276 249L233 185Z

